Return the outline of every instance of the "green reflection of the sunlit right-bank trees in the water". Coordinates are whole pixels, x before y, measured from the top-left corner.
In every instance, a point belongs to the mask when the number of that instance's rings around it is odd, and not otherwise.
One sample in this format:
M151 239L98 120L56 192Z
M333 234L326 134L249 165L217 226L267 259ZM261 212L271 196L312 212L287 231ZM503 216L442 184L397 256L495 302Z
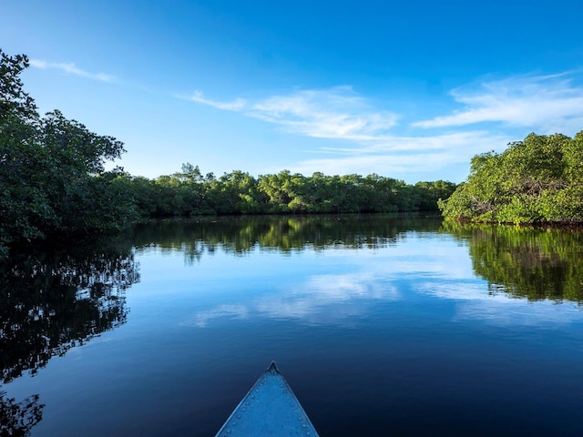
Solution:
M444 229L469 244L477 275L490 292L528 300L583 301L583 232L459 224Z

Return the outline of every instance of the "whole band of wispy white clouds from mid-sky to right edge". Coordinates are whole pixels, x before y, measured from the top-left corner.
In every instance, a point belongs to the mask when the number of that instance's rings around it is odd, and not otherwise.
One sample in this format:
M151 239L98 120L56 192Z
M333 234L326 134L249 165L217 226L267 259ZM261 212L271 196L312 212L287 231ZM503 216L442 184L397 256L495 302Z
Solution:
M478 153L501 150L528 132L573 135L580 130L583 86L576 82L578 73L509 76L460 86L450 92L449 104L461 109L405 123L407 114L384 110L352 86L295 90L254 101L223 103L201 93L191 100L239 111L295 135L328 140L298 150L302 158L283 163L292 171L406 176L455 168L449 178L461 180Z

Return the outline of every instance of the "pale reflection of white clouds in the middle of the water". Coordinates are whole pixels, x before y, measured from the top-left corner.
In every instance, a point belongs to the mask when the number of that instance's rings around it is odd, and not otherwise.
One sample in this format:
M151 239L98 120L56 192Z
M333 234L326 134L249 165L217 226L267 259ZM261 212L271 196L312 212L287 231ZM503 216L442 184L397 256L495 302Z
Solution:
M465 249L450 244L451 247L427 254L424 239L414 235L405 239L405 250L394 245L359 249L358 253L355 249L328 249L322 253L292 254L271 263L269 271L263 269L263 254L255 250L250 255L256 259L255 269L247 271L253 281L263 278L263 282L269 282L270 290L233 293L229 304L201 310L185 324L206 327L221 317L266 317L342 325L350 323L353 316L365 315L379 301L404 299L399 282L407 277L443 279L448 265L455 265L455 276L474 278L468 271L471 266L463 262L467 258Z

